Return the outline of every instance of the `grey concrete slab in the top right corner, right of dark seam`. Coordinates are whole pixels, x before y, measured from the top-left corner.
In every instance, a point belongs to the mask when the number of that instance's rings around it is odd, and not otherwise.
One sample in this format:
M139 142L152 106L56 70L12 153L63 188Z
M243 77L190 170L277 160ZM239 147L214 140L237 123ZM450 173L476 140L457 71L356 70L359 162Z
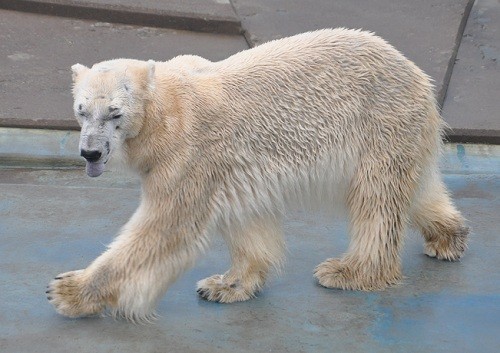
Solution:
M450 139L500 143L500 2L476 0L458 51L443 115Z

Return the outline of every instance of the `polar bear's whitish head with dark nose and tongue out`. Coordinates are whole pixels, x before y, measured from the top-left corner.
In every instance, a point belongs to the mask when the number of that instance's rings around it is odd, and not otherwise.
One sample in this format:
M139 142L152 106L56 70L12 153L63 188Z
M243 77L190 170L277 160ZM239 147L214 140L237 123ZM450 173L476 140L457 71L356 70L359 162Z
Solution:
M137 136L153 86L155 63L128 59L105 61L73 71L74 113L81 126L80 154L87 175L97 177L114 151Z

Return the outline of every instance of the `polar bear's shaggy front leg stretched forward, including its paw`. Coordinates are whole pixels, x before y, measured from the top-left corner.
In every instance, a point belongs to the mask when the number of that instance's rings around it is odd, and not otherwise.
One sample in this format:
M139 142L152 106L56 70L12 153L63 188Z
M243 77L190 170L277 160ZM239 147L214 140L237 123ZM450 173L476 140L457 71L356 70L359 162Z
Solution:
M69 317L108 308L115 317L149 321L167 287L192 266L207 243L205 223L187 210L174 216L170 209L159 212L157 205L146 201L88 268L57 276L49 285L48 299Z

